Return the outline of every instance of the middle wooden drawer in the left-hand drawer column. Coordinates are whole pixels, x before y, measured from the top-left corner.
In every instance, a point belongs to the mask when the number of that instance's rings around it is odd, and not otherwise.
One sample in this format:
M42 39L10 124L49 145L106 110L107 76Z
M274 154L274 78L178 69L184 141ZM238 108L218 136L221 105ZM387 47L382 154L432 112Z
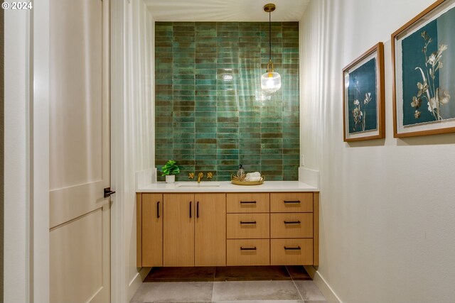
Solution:
M228 214L228 239L269 238L269 214Z

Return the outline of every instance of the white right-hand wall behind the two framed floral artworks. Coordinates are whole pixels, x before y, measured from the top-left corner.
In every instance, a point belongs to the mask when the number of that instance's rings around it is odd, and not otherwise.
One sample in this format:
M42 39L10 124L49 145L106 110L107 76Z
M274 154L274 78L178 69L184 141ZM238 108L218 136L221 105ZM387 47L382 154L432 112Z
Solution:
M390 34L432 2L311 0L301 20L301 153L321 170L318 272L342 302L454 302L455 135L392 129ZM342 69L379 41L386 138L343 143Z

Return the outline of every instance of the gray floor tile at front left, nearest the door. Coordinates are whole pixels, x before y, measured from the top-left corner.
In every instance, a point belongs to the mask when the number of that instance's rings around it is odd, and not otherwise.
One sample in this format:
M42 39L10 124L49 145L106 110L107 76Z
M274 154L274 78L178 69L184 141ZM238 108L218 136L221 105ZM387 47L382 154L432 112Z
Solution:
M211 302L213 282L147 282L142 283L131 303L145 302Z

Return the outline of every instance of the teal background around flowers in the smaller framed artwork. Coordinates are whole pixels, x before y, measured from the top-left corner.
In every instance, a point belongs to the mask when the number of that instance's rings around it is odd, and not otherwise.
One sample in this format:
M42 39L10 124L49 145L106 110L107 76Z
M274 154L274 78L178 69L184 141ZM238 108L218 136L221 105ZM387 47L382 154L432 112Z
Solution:
M376 93L376 58L368 60L360 67L349 73L348 87L348 116L349 116L349 133L361 133L362 128L355 127L353 109L355 108L354 100L358 100L361 109L365 109L365 131L373 131L378 128L378 106ZM371 93L371 101L365 106L363 100L365 94Z

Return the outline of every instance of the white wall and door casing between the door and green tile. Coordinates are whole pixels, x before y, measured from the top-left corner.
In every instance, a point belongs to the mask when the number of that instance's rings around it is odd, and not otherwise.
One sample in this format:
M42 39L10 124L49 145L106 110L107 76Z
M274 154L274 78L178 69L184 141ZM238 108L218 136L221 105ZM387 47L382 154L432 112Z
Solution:
M154 22L142 0L111 3L112 302L129 302L142 282L134 172L154 167Z

